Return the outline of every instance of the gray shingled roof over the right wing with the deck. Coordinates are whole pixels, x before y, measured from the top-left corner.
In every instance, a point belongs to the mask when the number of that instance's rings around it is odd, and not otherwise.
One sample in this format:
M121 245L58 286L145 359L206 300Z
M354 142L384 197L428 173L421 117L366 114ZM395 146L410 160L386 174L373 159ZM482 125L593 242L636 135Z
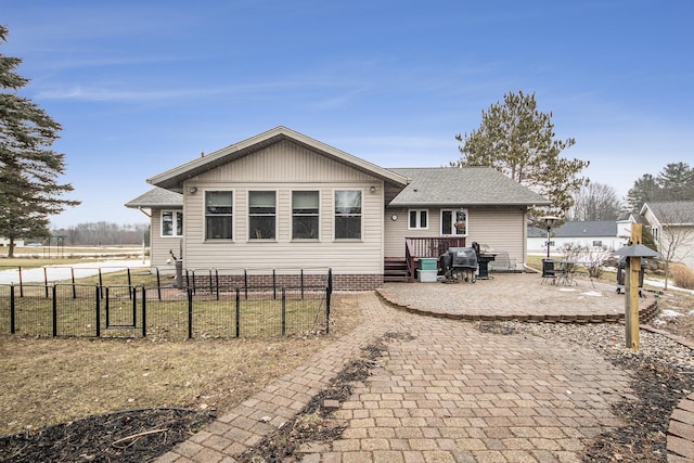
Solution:
M407 177L409 184L390 206L549 206L532 190L491 167L434 167L388 169Z

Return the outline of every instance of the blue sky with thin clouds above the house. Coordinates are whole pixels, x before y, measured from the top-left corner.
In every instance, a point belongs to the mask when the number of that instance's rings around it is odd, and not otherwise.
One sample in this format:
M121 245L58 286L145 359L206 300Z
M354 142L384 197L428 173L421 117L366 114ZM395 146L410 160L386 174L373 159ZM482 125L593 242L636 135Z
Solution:
M53 217L145 222L145 180L277 126L383 167L442 166L509 91L619 195L694 166L694 2L0 0L21 94L63 126Z

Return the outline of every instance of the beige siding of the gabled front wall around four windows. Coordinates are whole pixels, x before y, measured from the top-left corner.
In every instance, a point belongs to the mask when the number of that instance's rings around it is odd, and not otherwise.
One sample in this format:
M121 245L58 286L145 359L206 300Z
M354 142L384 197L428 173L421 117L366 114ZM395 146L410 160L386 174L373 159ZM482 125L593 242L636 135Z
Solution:
M197 192L189 193L195 185ZM376 191L372 193L371 187ZM206 242L205 191L233 191L233 240ZM277 192L277 239L248 239L248 192ZM292 191L319 191L319 241L292 240ZM362 239L335 241L334 192L362 192ZM301 145L282 141L250 156L191 178L185 193L185 256L188 269L317 269L332 268L336 281L352 275L383 274L383 181L351 169ZM373 283L370 283L373 287Z

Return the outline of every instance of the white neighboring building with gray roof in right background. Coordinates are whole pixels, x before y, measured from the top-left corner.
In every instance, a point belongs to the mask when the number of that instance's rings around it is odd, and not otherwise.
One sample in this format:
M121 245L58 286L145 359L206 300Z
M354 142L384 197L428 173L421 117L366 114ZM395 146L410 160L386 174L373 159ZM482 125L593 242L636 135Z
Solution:
M564 222L552 229L550 253L560 253L566 245L617 250L629 241L630 220L597 220ZM528 227L528 252L547 253L547 229Z

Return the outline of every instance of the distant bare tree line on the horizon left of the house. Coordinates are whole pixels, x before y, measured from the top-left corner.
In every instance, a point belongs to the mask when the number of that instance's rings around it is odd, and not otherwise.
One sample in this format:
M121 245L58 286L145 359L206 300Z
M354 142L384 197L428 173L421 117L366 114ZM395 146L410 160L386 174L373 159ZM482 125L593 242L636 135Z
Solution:
M52 230L53 240L61 236L66 246L110 246L150 244L150 227L146 223L117 224L108 222L79 223Z

